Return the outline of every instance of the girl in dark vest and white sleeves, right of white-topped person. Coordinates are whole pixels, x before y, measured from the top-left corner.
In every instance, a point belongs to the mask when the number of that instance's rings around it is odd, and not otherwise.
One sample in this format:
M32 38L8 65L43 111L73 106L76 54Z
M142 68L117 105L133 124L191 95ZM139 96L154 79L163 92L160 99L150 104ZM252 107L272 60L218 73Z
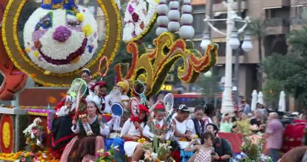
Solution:
M204 121L202 117L204 115L204 107L202 105L197 105L194 109L194 117L189 119L188 125L191 128L191 132L193 137L195 135L198 136L198 141L200 142L200 135L202 135L205 131Z

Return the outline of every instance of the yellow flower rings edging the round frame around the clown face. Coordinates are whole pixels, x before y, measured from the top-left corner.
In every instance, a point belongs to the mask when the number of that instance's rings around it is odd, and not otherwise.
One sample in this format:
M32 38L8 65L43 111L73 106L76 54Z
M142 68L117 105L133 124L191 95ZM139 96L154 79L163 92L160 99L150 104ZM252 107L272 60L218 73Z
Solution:
M20 5L19 5L19 8L17 9L16 11L16 14L14 16L14 19L13 19L13 37L14 37L14 42L15 44L17 45L18 48L18 51L19 53L23 53L23 50L21 49L20 45L19 45L19 41L18 41L18 34L17 34L17 25L18 25L18 18L19 18L19 15L23 9L23 6L25 5L25 3L27 2L27 0L21 0L20 2ZM3 16L3 24L6 24L7 23L7 20L9 19L8 18L8 15L9 15L9 11L12 7L12 4L14 3L14 1L9 1L8 5L7 5L7 8L4 12L4 16ZM97 3L98 5L100 6L101 10L103 10L104 12L104 15L105 15L105 18L106 18L106 37L105 37L105 42L109 42L109 39L110 39L110 18L109 18L109 15L108 15L108 10L105 8L105 5L103 4L103 2L101 2L101 0L97 0ZM115 39L115 43L112 45L115 45L114 46L114 49L113 49L113 52L111 53L110 55L110 62L113 61L116 53L117 53L117 49L119 48L119 42L120 42L120 39L121 39L121 20L120 20L120 13L119 13L119 10L117 8L117 4L115 1L111 1L110 2L111 5L112 5L112 8L114 9L115 11L115 15L117 17L117 35L116 35L116 39ZM2 36L3 36L3 44L5 46L5 49L8 53L8 56L9 58L12 60L12 62L14 63L15 67L17 67L19 70L21 70L22 72L25 72L27 73L28 75L31 75L29 72L27 72L25 69L21 68L21 66L17 63L17 61L14 59L13 57L13 54L11 52L11 49L8 45L8 41L7 41L7 33L6 33L6 25L3 25L2 26ZM107 43L105 43L103 45L103 48L101 48L101 50L98 52L97 54L97 57L95 59L93 59L93 61L91 61L90 63L88 63L88 65L86 65L86 68L90 68L91 66L93 66L94 64L96 64L96 62L99 60L99 58L103 55L103 53L105 52L105 50L107 49ZM110 43L111 44L111 43ZM22 58L24 60L26 60L32 67L35 67L36 65L33 64L25 55L21 55ZM39 71L41 72L44 72L44 70L40 69L40 68L36 68L38 69ZM79 74L81 72L82 69L78 69L76 71L73 71L73 72L69 72L69 73L63 73L63 74L56 74L56 73L50 73L51 75L53 76L72 76L72 75L75 75L75 74ZM97 74L94 74L94 76L96 76ZM57 86L69 86L69 85L66 85L66 84L63 84L63 85L59 85L59 84L53 84L53 83L46 83L44 82L43 80L40 80L40 79L37 79L36 77L33 77L34 81L36 83L39 83L41 85L44 85L44 86L54 86L54 87L57 87Z

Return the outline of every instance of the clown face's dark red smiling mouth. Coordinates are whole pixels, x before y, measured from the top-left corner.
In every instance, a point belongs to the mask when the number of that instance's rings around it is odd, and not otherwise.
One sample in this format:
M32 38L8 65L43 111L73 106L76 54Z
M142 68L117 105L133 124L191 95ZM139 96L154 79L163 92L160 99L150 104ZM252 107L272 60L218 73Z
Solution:
M84 53L84 50L86 48L86 44L87 44L87 38L84 38L83 42L82 42L82 46L77 51L69 54L69 56L66 59L63 59L63 60L57 60L57 59L53 59L53 58L46 56L41 51L41 47L38 48L38 51L39 51L41 57L43 59L45 59L48 63L54 64L54 65L66 65L66 64L70 64L71 62L73 62L75 59L77 59L78 57L80 57Z

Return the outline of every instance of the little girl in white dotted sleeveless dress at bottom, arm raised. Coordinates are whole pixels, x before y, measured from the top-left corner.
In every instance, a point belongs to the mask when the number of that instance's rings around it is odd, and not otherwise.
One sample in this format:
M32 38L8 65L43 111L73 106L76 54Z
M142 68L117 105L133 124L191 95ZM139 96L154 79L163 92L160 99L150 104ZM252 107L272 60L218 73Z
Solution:
M193 139L186 147L185 151L196 151L194 162L211 162L211 154L214 153L213 142L215 137L212 132L205 132L200 136L201 143L200 145L195 145L191 147L191 145L196 142L196 139ZM190 161L190 160L189 160Z

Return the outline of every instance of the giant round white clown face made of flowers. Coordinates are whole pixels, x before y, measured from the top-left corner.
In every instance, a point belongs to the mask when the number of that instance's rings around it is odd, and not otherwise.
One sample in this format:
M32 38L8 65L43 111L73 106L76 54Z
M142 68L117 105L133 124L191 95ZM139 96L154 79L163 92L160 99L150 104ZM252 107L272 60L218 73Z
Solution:
M73 0L43 1L27 20L25 51L38 67L52 73L85 66L97 48L97 22L90 11ZM60 3L59 3L60 2Z

